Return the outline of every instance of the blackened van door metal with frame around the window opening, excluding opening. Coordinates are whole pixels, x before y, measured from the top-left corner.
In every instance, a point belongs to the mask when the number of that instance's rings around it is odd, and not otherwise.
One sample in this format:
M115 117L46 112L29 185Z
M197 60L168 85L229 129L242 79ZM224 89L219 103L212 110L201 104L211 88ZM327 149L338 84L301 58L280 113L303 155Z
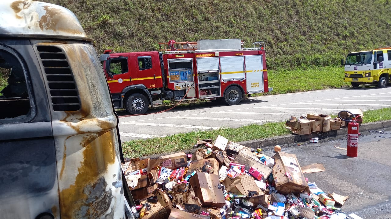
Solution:
M0 122L0 218L59 218L56 148L45 84L29 41L2 39L20 58L34 117Z

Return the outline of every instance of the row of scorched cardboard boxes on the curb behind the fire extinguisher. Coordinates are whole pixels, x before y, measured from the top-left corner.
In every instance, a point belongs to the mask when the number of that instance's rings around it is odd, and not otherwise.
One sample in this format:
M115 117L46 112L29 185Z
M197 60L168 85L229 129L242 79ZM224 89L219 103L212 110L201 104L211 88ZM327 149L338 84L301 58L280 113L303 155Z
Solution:
M364 116L361 109L353 109L351 113L359 120L362 120ZM340 113L341 118L350 120L353 117L348 115L346 111ZM359 122L361 123L361 122ZM340 118L331 118L329 115L307 113L307 115L301 115L300 118L291 117L285 123L285 128L294 134L311 134L312 132L328 132L331 130L338 130L343 126L346 126L346 122Z

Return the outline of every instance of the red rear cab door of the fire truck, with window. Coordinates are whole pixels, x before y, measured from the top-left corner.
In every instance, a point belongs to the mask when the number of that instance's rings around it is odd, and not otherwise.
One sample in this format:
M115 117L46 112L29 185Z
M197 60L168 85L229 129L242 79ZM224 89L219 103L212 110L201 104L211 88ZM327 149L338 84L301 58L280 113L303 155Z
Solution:
M156 53L157 54L157 53ZM159 56L154 53L143 53L135 56L136 84L143 84L147 88L160 88L163 86L160 71Z

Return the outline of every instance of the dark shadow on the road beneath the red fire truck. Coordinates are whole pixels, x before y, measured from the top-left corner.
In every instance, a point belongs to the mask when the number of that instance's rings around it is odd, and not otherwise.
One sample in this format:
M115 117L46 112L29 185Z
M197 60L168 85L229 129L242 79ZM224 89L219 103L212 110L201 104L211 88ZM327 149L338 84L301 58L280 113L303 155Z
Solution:
M245 104L253 104L253 103L259 103L259 102L267 102L267 101L260 101L260 100L255 100L255 99L247 99L244 98L238 105L245 105ZM158 106L153 109L149 109L147 113L157 113L160 111L163 111L165 109L172 108L174 105L171 106ZM178 106L176 106L174 109L171 109L170 111L175 112L175 111L185 111L185 110L192 110L192 109L207 109L207 108L213 108L213 107L218 107L218 106L228 106L222 101L218 100L211 100L208 102L199 102L199 103L186 103L182 102ZM126 110L120 110L116 111L118 116L124 116L124 115L129 115L129 113Z

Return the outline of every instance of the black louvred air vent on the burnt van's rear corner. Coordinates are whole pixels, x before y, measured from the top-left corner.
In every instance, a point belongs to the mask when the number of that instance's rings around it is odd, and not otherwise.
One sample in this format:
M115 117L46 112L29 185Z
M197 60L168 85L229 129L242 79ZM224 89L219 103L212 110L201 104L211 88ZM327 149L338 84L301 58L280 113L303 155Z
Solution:
M79 91L63 50L56 46L37 46L37 50L45 69L53 110L79 110Z

